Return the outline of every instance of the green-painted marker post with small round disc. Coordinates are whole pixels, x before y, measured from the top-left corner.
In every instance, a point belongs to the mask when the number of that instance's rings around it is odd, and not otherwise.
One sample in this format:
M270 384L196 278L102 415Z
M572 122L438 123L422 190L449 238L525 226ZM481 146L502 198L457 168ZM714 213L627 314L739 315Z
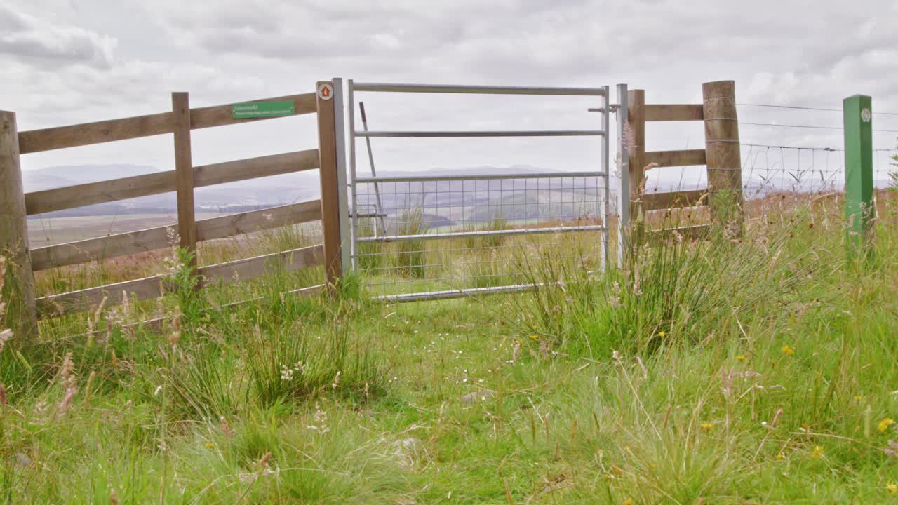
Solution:
M869 96L842 101L845 125L845 244L849 259L868 260L873 229L873 107Z

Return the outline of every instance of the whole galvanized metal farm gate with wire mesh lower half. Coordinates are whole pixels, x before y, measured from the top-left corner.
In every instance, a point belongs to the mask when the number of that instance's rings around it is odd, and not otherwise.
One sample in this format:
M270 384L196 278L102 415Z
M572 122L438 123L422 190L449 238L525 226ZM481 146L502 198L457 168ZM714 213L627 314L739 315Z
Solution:
M334 82L342 111L343 81ZM619 161L627 160L621 131L627 86L619 103L609 86L597 88L513 87L346 82L348 146L337 137L343 268L359 272L365 290L384 300L411 301L532 288L542 261L567 261L571 268L602 270L609 261L611 193L609 126L618 114ZM355 93L472 93L601 97L595 129L413 131L368 130L356 125ZM599 104L596 104L599 105ZM343 129L341 114L337 131ZM599 137L601 159L588 172L453 173L378 175L372 137ZM371 173L357 173L357 140L364 139ZM348 147L348 149L347 149ZM348 152L348 160L346 153ZM617 193L626 199L626 166L619 167ZM626 200L624 200L626 202ZM623 203L626 214L627 204ZM618 203L621 208L621 202ZM624 219L623 222L626 222ZM621 255L621 241L618 256ZM563 270L563 269L559 269ZM560 279L558 279L560 280Z

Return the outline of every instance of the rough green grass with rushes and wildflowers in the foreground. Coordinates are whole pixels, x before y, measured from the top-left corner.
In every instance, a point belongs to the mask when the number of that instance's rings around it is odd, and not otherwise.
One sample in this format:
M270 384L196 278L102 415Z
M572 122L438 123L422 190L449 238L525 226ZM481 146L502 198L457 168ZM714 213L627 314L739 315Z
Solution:
M541 248L526 277L567 282L531 293L384 305L282 274L223 309L181 275L162 332L131 305L13 336L0 501L898 501L898 199L867 264L837 201L768 203L742 240L598 276Z

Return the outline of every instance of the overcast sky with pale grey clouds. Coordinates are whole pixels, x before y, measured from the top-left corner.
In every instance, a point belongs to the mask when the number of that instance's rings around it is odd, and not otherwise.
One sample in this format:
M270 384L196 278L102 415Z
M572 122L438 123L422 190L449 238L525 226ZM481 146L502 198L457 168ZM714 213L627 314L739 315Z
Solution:
M745 103L841 107L871 94L898 111L898 2L451 0L152 2L0 0L0 109L19 129L313 91L356 81L601 86L647 102L700 102L734 79ZM596 128L589 100L359 95L372 128ZM838 112L743 107L740 120L841 126ZM263 124L264 123L264 124ZM694 127L694 128L693 128ZM898 116L874 128L898 129ZM215 131L214 131L215 130ZM742 128L744 142L841 146L841 132ZM876 147L895 146L894 133ZM594 141L374 139L379 167L597 166ZM648 148L696 147L700 124L652 125ZM194 133L194 162L315 145L311 117ZM25 155L26 170L122 163L172 168L171 136ZM364 157L364 156L362 156Z

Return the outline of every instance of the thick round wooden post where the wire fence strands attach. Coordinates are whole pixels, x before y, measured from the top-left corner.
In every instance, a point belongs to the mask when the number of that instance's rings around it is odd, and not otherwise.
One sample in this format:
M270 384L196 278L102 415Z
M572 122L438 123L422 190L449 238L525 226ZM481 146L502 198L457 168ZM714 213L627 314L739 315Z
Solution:
M705 121L705 158L711 220L729 236L742 236L742 159L735 81L701 84Z

